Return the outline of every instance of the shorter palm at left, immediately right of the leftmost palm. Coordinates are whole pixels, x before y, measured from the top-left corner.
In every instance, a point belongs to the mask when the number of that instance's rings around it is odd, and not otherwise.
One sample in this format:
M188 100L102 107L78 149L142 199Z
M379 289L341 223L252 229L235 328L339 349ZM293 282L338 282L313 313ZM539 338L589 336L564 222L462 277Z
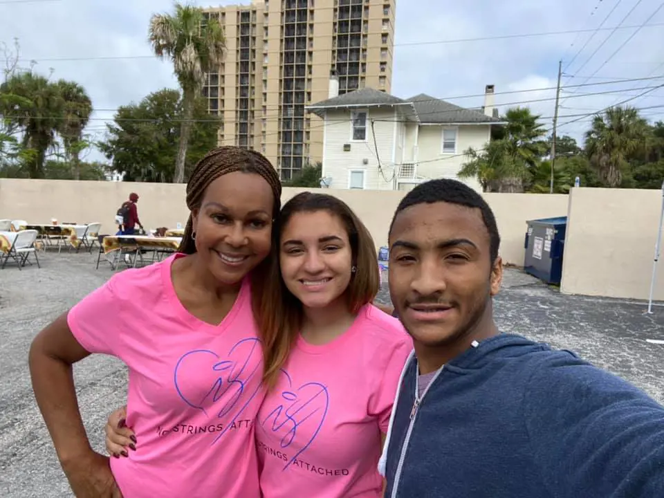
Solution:
M86 146L83 129L92 113L92 101L85 89L76 82L59 80L60 95L64 100L64 119L60 123L59 134L64 142L68 163L72 166L74 180L81 178L80 152Z

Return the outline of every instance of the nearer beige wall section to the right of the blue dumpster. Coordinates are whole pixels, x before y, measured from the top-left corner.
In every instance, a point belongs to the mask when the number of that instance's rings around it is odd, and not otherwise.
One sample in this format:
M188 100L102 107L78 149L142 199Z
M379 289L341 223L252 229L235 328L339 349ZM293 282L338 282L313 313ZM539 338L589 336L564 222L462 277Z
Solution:
M573 189L562 292L647 299L661 203L661 190ZM661 268L654 299L664 300Z

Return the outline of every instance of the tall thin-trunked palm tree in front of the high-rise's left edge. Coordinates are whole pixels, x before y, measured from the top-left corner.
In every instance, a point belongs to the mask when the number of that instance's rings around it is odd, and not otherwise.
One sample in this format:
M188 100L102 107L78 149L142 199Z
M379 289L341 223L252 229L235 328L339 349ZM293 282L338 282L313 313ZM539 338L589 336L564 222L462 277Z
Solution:
M206 73L217 71L223 59L223 32L215 19L205 19L201 8L176 3L175 15L152 16L149 40L158 57L168 57L173 62L174 73L182 88L183 122L173 179L174 183L182 183L194 101L201 91Z

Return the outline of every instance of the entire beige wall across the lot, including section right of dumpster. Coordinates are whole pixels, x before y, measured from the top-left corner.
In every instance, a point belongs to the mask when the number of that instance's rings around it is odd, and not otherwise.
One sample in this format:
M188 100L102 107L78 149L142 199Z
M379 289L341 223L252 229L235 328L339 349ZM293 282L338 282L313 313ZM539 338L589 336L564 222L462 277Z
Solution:
M283 201L304 189L286 189ZM75 182L0 178L0 219L30 223L99 221L113 232L113 216L129 196L140 195L138 212L146 228L186 223L185 185L168 183ZM391 216L405 192L325 190L343 199L367 225L376 246L387 243ZM564 216L568 228L562 292L646 299L662 194L659 190L573 189L570 196L484 194L501 234L501 256L522 266L529 219ZM664 270L655 299L664 300Z

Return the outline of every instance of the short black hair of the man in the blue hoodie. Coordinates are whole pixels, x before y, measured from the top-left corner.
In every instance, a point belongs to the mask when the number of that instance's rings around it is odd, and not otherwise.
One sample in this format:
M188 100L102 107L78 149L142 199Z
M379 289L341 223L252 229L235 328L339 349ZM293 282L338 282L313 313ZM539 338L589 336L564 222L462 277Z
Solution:
M498 233L498 226L496 225L496 218L489 205L475 190L465 183L457 180L450 180L449 178L440 178L438 180L430 180L425 183L420 183L413 190L408 192L406 196L401 199L394 217L389 225L389 234L392 233L394 220L396 216L411 206L418 204L432 204L436 202L446 202L450 204L458 204L466 206L467 208L477 208L482 213L482 219L486 230L489 232L489 250L491 262L493 263L498 257L498 249L500 247L500 235Z

